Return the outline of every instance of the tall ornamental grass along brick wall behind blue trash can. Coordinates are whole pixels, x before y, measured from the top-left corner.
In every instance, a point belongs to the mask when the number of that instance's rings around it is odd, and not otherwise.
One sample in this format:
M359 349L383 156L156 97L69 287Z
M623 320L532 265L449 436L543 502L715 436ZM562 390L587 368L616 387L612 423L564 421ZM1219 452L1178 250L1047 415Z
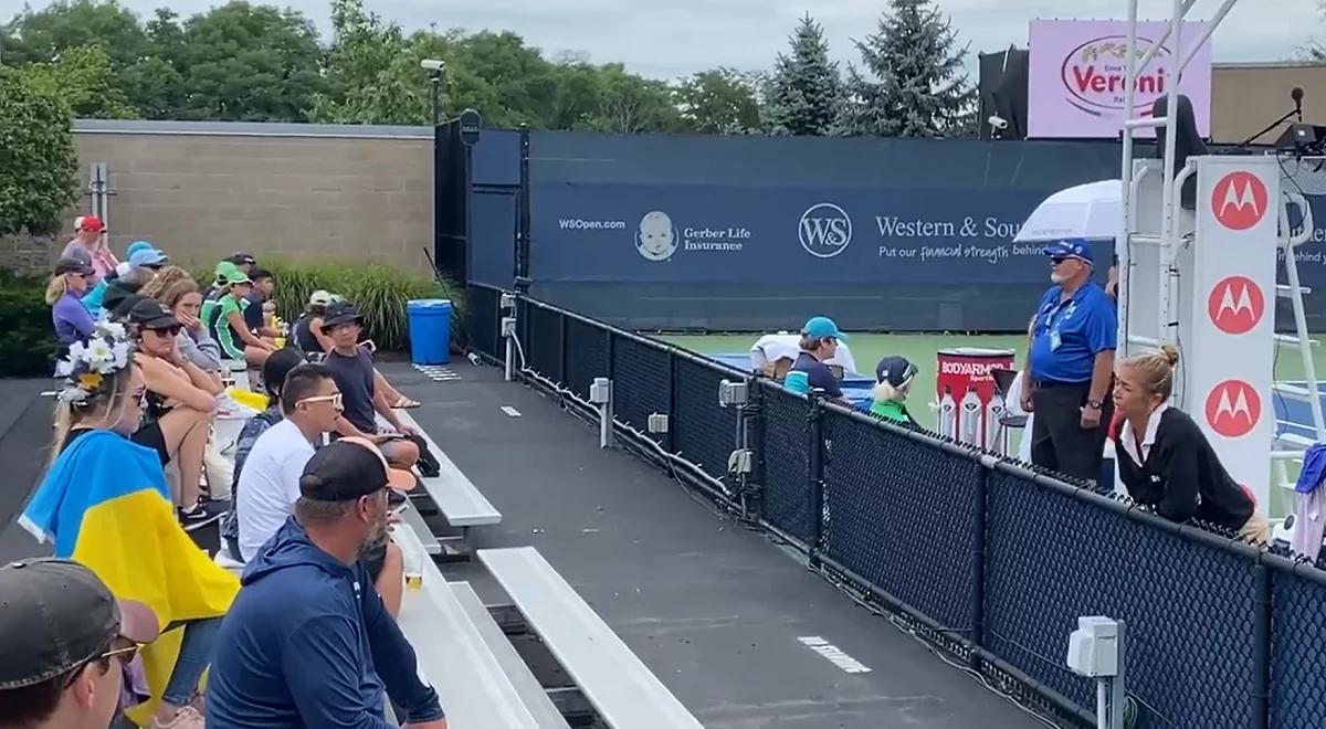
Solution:
M451 341L461 343L464 333L464 289L450 281L434 281L385 264L361 261L282 261L260 256L263 268L276 277L276 310L288 322L302 315L309 296L325 289L354 301L363 314L366 337L379 350L408 350L410 329L406 302L412 298L450 298L452 304ZM195 276L200 282L211 270Z

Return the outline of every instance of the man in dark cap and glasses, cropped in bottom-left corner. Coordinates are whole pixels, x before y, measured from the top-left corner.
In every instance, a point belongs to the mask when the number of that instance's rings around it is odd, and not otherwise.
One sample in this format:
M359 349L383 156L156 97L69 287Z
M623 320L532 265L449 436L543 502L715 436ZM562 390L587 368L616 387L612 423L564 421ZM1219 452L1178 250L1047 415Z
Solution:
M0 726L106 729L138 647L156 640L156 616L117 600L91 570L68 559L0 567Z

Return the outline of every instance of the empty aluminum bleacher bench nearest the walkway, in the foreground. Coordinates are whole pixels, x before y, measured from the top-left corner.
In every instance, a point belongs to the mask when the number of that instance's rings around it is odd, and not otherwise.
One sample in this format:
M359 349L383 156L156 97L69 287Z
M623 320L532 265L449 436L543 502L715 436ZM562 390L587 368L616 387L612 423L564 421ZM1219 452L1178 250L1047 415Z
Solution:
M479 559L609 726L701 728L534 547L481 549Z

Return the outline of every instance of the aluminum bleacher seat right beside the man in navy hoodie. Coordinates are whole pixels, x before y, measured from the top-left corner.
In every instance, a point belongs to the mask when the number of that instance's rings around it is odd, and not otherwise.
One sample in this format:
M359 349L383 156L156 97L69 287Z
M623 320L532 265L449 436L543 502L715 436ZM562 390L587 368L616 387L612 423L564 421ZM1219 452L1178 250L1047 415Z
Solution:
M422 566L423 586L406 589L396 622L418 655L419 676L442 700L448 729L541 729L414 530L392 529L391 538Z

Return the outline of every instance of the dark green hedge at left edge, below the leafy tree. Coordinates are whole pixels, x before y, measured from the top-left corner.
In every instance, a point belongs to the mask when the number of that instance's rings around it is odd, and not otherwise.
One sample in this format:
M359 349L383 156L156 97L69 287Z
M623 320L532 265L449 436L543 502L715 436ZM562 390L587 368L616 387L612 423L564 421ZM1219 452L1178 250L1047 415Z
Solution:
M49 376L54 371L60 347L45 292L45 278L0 269L0 376Z

